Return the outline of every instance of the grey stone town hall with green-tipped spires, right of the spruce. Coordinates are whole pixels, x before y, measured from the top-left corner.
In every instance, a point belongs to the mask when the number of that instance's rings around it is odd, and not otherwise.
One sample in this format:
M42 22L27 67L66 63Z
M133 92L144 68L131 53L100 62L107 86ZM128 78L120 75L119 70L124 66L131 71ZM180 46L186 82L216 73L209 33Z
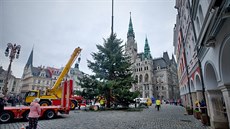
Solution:
M168 53L164 52L163 57L153 59L147 37L144 52L138 53L131 16L125 52L130 56L133 77L137 81L132 86L132 91L140 91L140 97L179 99L177 66L174 57L169 59Z

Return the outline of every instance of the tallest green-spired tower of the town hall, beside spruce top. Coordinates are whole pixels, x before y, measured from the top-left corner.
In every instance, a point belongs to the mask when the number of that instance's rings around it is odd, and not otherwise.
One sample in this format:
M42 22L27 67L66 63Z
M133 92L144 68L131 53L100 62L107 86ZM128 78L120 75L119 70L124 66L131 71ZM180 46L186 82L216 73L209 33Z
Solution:
M137 43L135 41L135 33L133 31L131 12L129 20L129 29L127 33L127 42L125 44L125 52L131 58L131 63L134 63L137 58Z

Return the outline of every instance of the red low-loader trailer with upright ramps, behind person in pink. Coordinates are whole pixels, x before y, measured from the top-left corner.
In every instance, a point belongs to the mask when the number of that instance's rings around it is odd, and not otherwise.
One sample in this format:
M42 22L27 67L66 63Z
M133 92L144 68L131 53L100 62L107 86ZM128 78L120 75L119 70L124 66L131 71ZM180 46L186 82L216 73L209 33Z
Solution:
M46 119L55 118L58 112L61 114L69 114L70 98L72 96L73 80L62 83L61 103L58 106L41 106L40 117ZM4 111L0 113L0 123L7 123L13 119L24 119L28 121L30 106L20 105L17 107L4 107Z

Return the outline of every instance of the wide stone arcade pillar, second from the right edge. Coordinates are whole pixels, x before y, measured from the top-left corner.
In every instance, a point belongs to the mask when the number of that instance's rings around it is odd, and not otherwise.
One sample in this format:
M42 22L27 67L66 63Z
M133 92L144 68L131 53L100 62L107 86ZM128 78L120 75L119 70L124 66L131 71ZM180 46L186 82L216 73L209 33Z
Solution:
M223 103L221 100L222 92L220 90L208 90L207 101L210 115L211 126L215 129L228 129L228 121L224 116Z

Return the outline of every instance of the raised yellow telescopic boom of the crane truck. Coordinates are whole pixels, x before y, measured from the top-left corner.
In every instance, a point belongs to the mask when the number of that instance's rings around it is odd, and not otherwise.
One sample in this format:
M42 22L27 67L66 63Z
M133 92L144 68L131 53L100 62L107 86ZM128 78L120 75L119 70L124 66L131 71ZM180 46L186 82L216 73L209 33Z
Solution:
M59 75L57 81L55 82L54 86L50 89L50 91L55 92L55 90L59 87L59 85L61 84L63 78L65 77L65 75L69 72L73 62L76 60L76 58L78 57L78 55L81 52L81 48L75 48L74 52L72 53L69 61L67 62L67 64L65 65L64 69L62 70L61 74Z

